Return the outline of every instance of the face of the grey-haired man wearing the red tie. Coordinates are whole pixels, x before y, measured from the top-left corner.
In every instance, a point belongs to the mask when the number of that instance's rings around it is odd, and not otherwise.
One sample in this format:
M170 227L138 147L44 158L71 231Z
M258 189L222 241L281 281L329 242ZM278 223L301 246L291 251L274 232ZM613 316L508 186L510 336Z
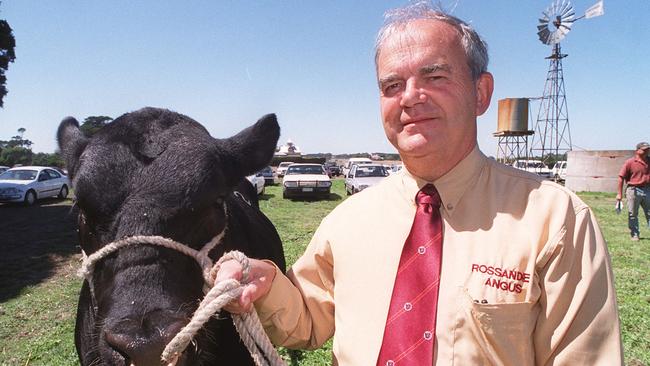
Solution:
M377 77L384 130L403 158L458 161L471 151L492 76L472 80L454 28L432 20L409 23L384 41Z

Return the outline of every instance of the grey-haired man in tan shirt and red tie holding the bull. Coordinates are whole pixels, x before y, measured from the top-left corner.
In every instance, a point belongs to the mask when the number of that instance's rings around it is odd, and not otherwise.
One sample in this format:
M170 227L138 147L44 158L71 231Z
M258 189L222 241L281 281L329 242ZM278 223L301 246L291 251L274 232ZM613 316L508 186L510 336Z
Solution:
M418 3L388 14L376 52L384 130L406 169L334 209L286 276L253 260L253 282L227 309L254 302L278 345L334 336L336 365L621 364L611 265L591 211L476 146L493 89L478 34ZM416 248L442 257L424 268L439 276L422 291L437 292L424 309L433 323L395 329L403 314L422 314L420 295L395 299L410 291L400 278L418 257L402 256L425 214L442 222L442 233L430 229L437 244ZM217 280L240 276L226 262ZM424 331L405 346L411 328Z

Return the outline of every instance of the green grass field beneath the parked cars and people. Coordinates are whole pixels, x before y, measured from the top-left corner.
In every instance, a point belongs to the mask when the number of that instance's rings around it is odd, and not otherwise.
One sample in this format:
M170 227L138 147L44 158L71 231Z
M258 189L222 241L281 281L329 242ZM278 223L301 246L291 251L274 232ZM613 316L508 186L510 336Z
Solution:
M335 181L333 195L327 201L284 200L279 186L266 188L260 207L280 233L288 264L302 254L321 219L345 197L341 180ZM584 193L580 197L594 210L609 245L626 365L650 366L650 230L642 227L642 240L632 242L626 215L614 212L614 195ZM58 257L56 266L33 281L22 280L31 276L31 265L0 259L0 365L78 364L72 337L80 288L80 280L74 276L79 256L67 251ZM23 285L12 286L8 283L12 281ZM316 351L282 353L294 365L328 365L330 349L328 343Z

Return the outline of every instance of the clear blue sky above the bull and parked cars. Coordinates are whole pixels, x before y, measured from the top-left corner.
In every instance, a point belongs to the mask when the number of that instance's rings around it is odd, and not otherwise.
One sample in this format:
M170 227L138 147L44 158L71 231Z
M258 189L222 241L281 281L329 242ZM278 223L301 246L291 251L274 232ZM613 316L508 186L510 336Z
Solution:
M581 14L595 1L572 3ZM34 151L53 152L66 116L116 118L156 106L215 137L274 112L280 142L305 153L394 152L381 128L373 43L384 11L404 3L3 0L17 58L0 139L24 127ZM536 25L550 1L442 4L489 45L495 91L478 142L496 155L497 100L543 93L550 47ZM577 22L562 42L574 149L650 140L649 15L648 0L605 0L604 16ZM536 118L538 104L531 108Z

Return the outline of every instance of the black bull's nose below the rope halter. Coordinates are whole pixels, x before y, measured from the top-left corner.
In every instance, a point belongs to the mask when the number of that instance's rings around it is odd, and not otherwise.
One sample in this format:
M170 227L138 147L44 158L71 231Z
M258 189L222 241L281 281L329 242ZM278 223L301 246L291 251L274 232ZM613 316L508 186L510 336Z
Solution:
M169 315L169 314L168 314ZM160 312L141 319L123 319L104 329L106 342L136 366L160 366L160 355L169 341L187 323L162 317Z

